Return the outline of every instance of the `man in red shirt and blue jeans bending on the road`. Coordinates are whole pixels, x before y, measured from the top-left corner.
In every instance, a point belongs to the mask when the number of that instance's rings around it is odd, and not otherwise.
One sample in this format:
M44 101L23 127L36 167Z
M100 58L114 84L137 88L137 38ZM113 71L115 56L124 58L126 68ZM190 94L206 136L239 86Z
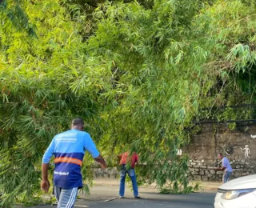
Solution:
M138 162L138 154L135 152L130 155L129 152L125 152L118 156L120 158L120 165L121 165L121 173L120 173L120 188L119 188L119 198L124 198L125 194L125 182L126 182L126 174L129 175L131 182L133 184L134 190L134 198L140 198L138 195L138 184L136 180L136 174L134 167ZM127 162L130 162L130 167L126 166Z

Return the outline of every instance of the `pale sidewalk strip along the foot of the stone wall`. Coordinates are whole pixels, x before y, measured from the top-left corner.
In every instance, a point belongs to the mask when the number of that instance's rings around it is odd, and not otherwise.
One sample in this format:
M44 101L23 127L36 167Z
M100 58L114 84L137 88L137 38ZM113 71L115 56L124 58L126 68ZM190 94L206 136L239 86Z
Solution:
M94 178L95 186L119 186L119 178ZM191 184L195 184L195 181L192 181ZM217 192L218 186L222 185L222 182L203 182L200 181L200 190L198 192ZM157 190L155 187L156 184L151 184L150 186L140 186L147 189Z

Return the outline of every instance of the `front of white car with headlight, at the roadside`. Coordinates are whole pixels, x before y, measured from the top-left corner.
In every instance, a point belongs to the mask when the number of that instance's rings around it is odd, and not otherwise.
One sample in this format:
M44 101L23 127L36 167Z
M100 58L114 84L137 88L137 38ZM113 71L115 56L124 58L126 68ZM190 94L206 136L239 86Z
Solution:
M256 174L219 186L214 208L256 208Z

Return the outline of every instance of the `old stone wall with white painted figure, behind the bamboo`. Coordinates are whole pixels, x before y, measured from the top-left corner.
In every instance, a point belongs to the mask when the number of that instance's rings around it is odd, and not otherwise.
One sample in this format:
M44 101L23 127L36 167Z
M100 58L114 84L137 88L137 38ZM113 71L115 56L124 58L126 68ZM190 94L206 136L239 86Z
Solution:
M225 124L204 124L195 134L188 146L182 148L182 154L188 154L188 177L191 180L222 181L223 171L218 153L225 154L233 168L231 178L256 173L256 125L237 125L230 130ZM250 151L249 151L250 150ZM94 168L94 178L118 178L118 168Z

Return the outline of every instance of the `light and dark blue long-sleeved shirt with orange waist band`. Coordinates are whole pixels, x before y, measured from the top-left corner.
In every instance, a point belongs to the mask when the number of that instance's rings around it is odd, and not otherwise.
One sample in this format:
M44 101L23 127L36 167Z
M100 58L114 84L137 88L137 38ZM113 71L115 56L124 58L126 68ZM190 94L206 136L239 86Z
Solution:
M82 186L81 166L86 150L93 158L99 155L90 134L84 131L67 130L53 138L42 163L49 163L54 155L54 186L64 189Z

